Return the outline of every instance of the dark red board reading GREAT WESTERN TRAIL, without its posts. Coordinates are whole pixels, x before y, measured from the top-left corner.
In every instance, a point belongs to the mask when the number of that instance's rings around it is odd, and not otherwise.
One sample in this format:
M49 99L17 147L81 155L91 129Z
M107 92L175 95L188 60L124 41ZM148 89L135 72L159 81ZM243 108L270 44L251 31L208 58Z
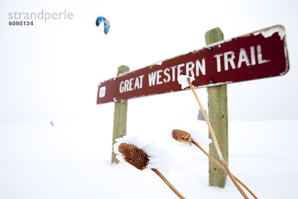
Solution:
M121 74L98 84L97 104L181 91L179 75L194 77L195 88L285 75L285 34L276 25Z

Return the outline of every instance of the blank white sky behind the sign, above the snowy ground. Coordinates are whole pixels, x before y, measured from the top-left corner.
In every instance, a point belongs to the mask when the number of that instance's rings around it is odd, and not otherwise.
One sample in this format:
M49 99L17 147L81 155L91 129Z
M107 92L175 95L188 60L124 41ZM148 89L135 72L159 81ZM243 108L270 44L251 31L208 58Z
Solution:
M0 124L112 119L113 103L96 104L97 84L114 77L118 66L133 71L202 48L205 32L215 27L228 39L276 24L286 28L290 71L228 85L228 117L298 118L297 5L294 0L1 0ZM66 9L74 18L8 25L8 12L41 9ZM100 15L110 21L107 35L95 25ZM198 90L206 105L205 91ZM198 107L189 93L129 100L128 120L196 116Z

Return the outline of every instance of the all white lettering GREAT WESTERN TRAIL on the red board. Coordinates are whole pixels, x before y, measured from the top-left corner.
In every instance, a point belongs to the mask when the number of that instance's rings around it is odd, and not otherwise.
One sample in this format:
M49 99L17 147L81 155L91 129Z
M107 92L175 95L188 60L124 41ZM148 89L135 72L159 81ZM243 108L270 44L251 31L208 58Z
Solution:
M270 62L270 60L263 59L261 45L250 46L249 49L240 48L239 54L236 57L236 53L232 50L223 52L213 56L216 58L217 72L222 71L222 63L224 63L224 71L234 70L245 66L254 66L256 63L264 64ZM183 70L183 68L185 69ZM176 66L167 67L165 69L159 69L152 71L148 74L148 85L153 87L155 85L161 85L169 83L170 81L176 81L177 77L182 75L185 71L185 75L190 77L198 77L206 75L206 60L188 61L186 63L180 63ZM143 78L145 75L141 75L136 78L130 78L120 82L119 92L125 93L143 88Z

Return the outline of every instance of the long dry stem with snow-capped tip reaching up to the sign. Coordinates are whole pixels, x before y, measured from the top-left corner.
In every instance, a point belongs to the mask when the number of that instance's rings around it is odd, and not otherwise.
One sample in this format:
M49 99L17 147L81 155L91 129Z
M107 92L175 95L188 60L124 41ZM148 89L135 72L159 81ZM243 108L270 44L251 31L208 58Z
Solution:
M195 90L194 90L194 87L193 87L193 85L192 85L190 79L188 78L187 81L188 81L188 84L189 84L189 86L190 86L192 92L194 93L194 95L195 95L195 97L196 97L196 99L197 99L197 101L198 101L198 103L199 103L200 109L201 109L201 111L202 111L202 114L203 114L203 116L204 116L204 119L205 119L206 122L207 122L209 131L210 131L210 133L211 133L213 142L214 142L214 144L215 144L215 148L216 148L216 150L217 150L217 153L218 153L218 155L219 155L219 157L220 157L220 159L221 159L221 162L222 162L222 164L223 164L223 166L224 166L224 169L225 169L225 171L226 171L228 177L231 179L231 181L232 181L233 184L236 186L236 188L238 189L238 191L241 193L241 195L243 196L243 198L244 198L244 199L249 199L249 198L246 196L246 194L243 192L243 190L241 189L241 187L238 185L238 183L236 182L234 176L233 176L233 175L231 174L231 172L229 171L229 169L228 169L228 167L227 167L227 165L226 165L226 163L225 163L225 161L224 161L224 156L223 156L223 154L222 154L222 151L221 151L221 149L220 149L219 143L218 143L217 138L216 138L216 136L215 136L214 130L213 130L211 124L210 124L210 121L209 121L209 119L208 119L208 117L207 117L207 115L206 115L206 113L205 113L205 111L204 111L204 109L203 109L203 106L202 106L202 104L201 104L201 102L200 102L200 100L199 100L199 98L198 98L198 96L197 96L197 94L196 94L196 92L195 92Z

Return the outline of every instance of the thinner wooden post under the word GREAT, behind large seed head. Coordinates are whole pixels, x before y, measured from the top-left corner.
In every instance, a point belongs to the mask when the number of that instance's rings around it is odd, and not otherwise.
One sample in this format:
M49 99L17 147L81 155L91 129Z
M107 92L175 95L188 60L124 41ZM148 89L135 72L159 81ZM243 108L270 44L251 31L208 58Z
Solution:
M117 76L121 73L129 71L129 67L120 66L118 67ZM115 102L114 109L114 127L113 127L113 146L116 143L115 139L126 135L126 117L127 117L127 100ZM116 159L116 154L112 152L112 163L118 163L119 160Z

